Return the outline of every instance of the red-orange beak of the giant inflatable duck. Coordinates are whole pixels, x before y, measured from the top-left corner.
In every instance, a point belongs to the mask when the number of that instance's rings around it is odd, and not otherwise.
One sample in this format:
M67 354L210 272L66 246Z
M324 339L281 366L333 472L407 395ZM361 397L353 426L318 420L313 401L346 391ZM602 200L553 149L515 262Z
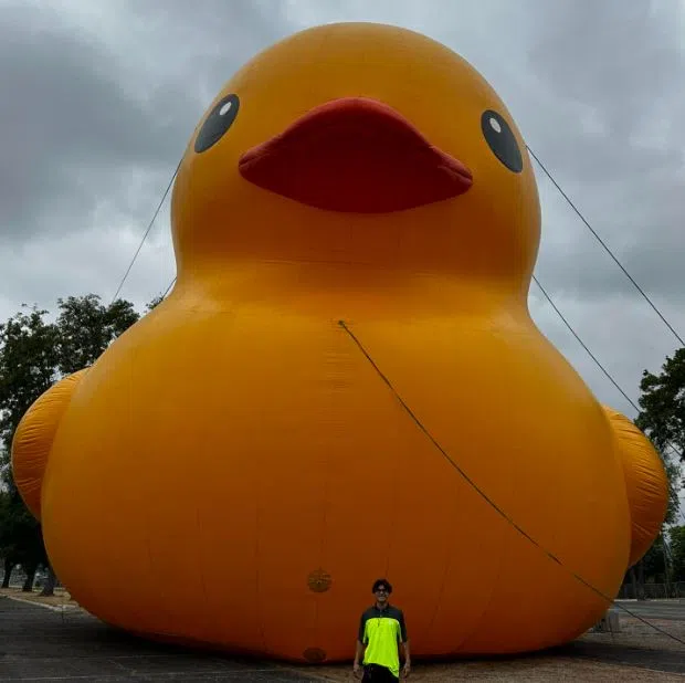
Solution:
M239 161L254 185L329 211L381 213L457 197L473 182L401 114L363 97L305 114Z

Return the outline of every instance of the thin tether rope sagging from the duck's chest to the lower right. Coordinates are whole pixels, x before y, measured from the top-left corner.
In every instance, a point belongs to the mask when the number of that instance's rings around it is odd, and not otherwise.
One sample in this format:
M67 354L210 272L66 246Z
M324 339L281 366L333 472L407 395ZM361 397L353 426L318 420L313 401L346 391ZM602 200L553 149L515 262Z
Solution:
M668 633L667 631L664 631L660 627L654 626L653 623L650 623L646 619L642 618L640 614L635 614L634 612L632 612L628 608L623 607L622 605L619 605L619 603L614 602L613 598L610 598L609 596L605 596L601 590L599 590L598 588L592 586L592 584L590 584L589 581L583 579L580 575L576 574L572 569L569 569L556 555L554 555L552 553L547 550L545 547L542 547L524 528L521 528L518 524L516 524L516 522L514 522L514 519L512 519L512 517L509 517L493 500L491 500L489 496L466 474L466 472L464 472L459 466L459 464L455 463L454 460L452 460L452 458L450 458L449 453L442 448L442 445L440 445L440 443L434 439L434 437L423 425L421 420L419 420L419 418L414 414L414 412L411 410L411 408L407 404L404 399L402 399L402 397L398 393L398 391L392 386L392 382L388 379L388 377L386 375L383 375L382 370L378 367L378 365L376 364L373 358L371 358L371 356L369 355L367 349L363 347L361 342L357 338L355 333L347 326L345 321L338 321L338 325L349 335L349 337L352 339L352 342L357 345L359 350L363 354L365 358L373 367L373 369L376 370L378 376L382 379L382 381L388 386L390 391L393 393L393 396L397 398L397 400L400 402L400 404L402 406L404 411L413 420L413 422L417 424L417 427L428 437L428 439L431 441L431 443L442 453L442 455L452 465L452 467L454 467L461 474L461 476L474 488L474 491L476 491L476 493L488 505L491 505L509 525L512 525L519 534L521 534L521 536L524 536L534 546L536 546L539 550L541 550L545 555L547 555L547 557L549 557L552 561L555 561L557 565L559 565L559 567L561 567L566 571L568 571L576 580L578 580L583 586L586 586L587 588L592 590L592 592L598 595L605 602L608 602L609 605L615 605L616 607L619 607L622 610L624 610L625 612L628 612L631 617L637 619L639 621L642 621L643 623L645 623L650 628L658 631L663 635L666 635L666 637L671 638L672 640L676 641L677 643L679 643L682 645L685 645L685 640L679 639L677 635L673 635L673 633Z

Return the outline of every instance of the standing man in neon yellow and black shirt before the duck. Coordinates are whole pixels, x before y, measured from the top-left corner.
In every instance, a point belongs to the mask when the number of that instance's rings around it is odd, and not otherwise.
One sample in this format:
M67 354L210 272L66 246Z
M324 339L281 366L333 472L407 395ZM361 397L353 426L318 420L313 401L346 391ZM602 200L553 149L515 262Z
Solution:
M401 609L389 602L392 592L389 581L377 579L372 592L376 596L376 603L361 614L352 670L355 676L359 677L361 673L359 661L363 654L362 683L368 681L393 683L400 679L400 643L404 650L403 676L407 677L411 670L404 614Z

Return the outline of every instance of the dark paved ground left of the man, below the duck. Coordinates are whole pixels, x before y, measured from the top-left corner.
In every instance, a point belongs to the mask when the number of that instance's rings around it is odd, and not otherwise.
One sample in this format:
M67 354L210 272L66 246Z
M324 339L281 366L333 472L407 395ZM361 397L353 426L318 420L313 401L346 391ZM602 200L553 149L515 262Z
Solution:
M318 681L268 663L179 651L110 629L82 612L60 613L0 597L0 682Z

